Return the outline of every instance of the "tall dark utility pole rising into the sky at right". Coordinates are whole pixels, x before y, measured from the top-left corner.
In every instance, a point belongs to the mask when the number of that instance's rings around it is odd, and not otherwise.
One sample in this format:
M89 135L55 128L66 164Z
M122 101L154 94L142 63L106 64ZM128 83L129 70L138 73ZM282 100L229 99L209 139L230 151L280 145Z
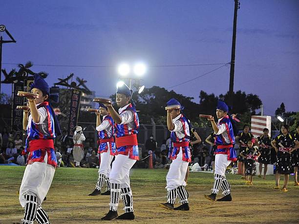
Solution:
M230 87L229 87L229 104L233 104L234 93L234 77L235 77L235 37L236 37L236 19L237 11L240 8L239 0L235 0L235 13L234 13L234 26L233 26L233 42L232 42L232 59L231 59L231 71L230 71Z

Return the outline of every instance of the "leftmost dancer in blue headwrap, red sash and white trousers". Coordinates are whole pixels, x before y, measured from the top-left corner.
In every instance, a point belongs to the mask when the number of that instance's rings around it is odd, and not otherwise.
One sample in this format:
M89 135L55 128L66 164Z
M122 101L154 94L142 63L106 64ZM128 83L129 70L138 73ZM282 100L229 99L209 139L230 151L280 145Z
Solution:
M60 127L48 99L50 89L43 78L35 74L31 92L39 98L28 99L30 116L24 111L23 128L27 130L27 166L20 187L20 204L25 208L23 224L49 224L48 215L42 208L43 199L51 186L57 160L54 139L60 135Z

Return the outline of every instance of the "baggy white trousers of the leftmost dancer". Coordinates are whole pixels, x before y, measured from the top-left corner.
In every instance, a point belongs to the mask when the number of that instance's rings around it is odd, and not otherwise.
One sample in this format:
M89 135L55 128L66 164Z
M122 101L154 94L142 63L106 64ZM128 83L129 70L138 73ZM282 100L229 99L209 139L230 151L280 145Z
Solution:
M20 204L25 207L24 195L34 195L38 199L38 205L43 203L51 186L55 168L47 164L47 153L44 156L44 162L34 162L26 166L24 176L20 187Z

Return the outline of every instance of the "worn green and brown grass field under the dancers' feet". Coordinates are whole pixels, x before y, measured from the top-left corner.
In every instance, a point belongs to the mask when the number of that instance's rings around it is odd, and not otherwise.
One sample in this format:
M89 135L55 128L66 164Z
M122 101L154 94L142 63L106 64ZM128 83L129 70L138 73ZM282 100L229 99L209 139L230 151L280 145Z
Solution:
M23 209L19 190L24 167L0 167L0 224L20 222ZM135 223L299 223L299 187L290 177L288 192L273 189L275 178L254 179L245 185L239 175L227 175L232 186L232 202L210 202L213 174L190 173L190 211L170 211L158 206L166 201L164 169L132 169L131 187ZM59 168L43 203L51 224L95 224L108 211L109 196L86 196L94 189L97 169ZM283 178L282 180L283 181ZM282 183L282 182L281 182ZM221 194L219 194L221 197ZM118 213L123 213L120 201ZM128 223L126 221L112 221ZM131 223L130 222L130 223Z

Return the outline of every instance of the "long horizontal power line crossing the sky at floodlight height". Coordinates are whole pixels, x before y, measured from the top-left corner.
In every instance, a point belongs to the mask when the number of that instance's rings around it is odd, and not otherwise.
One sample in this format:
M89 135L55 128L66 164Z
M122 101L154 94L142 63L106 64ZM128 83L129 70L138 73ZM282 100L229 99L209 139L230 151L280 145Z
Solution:
M2 64L11 64L19 65L20 63L2 63ZM205 65L219 65L226 63L208 63L208 64L158 64L158 65L149 65L149 67L190 67L190 66L205 66ZM33 64L35 66L50 66L50 67L84 67L84 68L113 68L115 66L110 65L70 65L70 64Z

